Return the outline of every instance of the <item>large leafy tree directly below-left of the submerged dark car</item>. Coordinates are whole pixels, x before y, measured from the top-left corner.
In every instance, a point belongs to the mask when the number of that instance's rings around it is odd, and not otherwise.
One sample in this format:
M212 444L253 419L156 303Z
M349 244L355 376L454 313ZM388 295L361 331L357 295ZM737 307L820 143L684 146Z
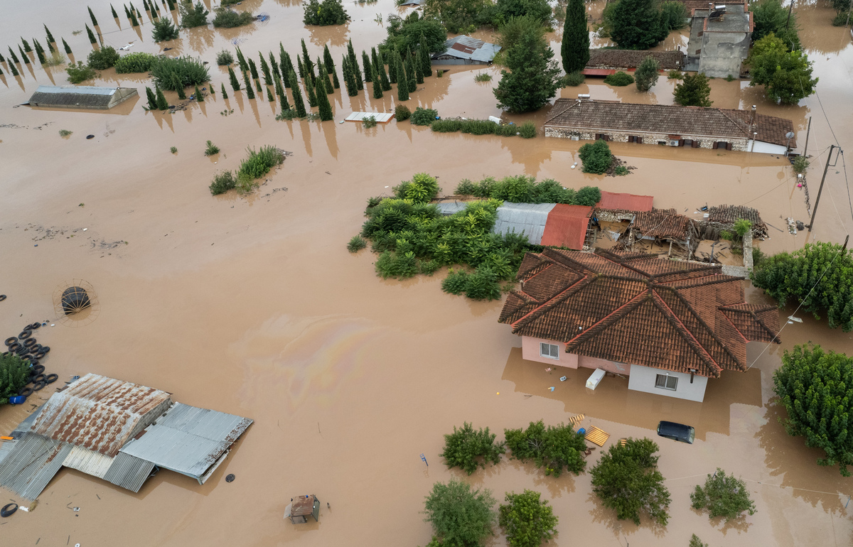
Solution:
M658 445L651 439L629 438L624 446L614 444L601 454L590 470L593 492L605 507L616 510L619 520L640 524L641 512L660 526L670 515L670 491L658 470Z

